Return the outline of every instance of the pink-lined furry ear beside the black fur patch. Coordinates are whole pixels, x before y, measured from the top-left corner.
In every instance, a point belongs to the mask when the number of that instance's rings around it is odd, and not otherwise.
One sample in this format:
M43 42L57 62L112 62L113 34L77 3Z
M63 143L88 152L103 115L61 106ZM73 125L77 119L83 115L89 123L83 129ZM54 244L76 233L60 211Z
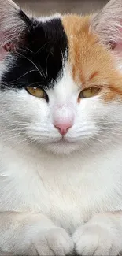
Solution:
M0 60L23 45L30 29L27 15L12 0L0 0Z

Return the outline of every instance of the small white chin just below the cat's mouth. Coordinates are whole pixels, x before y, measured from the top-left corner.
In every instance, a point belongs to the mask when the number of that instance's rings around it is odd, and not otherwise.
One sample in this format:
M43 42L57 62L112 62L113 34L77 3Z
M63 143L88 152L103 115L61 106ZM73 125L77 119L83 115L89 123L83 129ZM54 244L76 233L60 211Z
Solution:
M68 141L59 141L57 143L46 144L46 150L50 151L53 154L71 154L74 151L80 149L77 143L69 143Z

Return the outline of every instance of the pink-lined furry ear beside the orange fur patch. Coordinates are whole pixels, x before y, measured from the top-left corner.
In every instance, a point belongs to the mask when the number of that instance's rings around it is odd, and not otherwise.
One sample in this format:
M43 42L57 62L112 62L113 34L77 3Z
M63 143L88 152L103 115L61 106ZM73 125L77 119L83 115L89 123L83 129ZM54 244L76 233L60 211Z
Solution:
M122 54L122 0L110 0L91 20L90 30L102 43Z

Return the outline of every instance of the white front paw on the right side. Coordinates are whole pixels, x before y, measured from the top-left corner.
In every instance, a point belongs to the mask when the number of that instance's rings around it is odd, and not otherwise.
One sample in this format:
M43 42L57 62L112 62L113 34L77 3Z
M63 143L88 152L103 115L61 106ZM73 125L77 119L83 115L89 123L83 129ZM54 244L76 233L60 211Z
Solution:
M116 232L116 224L99 214L80 226L72 239L76 253L82 256L116 256L122 250L122 238Z

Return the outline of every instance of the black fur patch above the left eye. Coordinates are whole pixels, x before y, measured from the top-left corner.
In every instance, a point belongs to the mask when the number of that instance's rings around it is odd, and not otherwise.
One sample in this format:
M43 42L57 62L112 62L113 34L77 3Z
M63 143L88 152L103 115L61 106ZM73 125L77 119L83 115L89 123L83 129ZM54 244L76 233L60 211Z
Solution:
M27 26L24 46L10 53L14 61L2 76L2 89L28 86L48 89L54 86L54 81L61 73L63 57L68 51L68 40L61 19L54 18L46 22L32 19Z

